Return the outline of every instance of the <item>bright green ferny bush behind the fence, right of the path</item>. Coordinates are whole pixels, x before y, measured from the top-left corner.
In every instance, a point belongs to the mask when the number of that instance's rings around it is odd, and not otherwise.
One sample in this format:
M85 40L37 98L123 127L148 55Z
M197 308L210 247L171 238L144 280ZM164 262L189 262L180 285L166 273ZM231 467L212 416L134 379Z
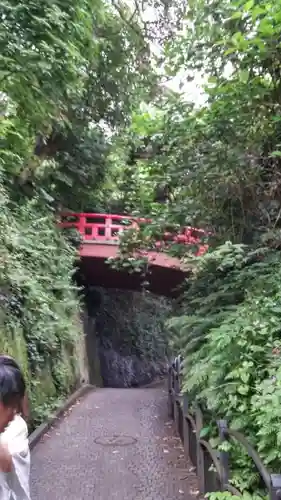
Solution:
M279 251L226 243L200 259L182 310L169 322L172 348L185 357L184 390L205 407L209 437L216 436L216 419L226 418L275 472L281 465L280 278ZM233 484L256 490L251 460L237 445L231 455Z

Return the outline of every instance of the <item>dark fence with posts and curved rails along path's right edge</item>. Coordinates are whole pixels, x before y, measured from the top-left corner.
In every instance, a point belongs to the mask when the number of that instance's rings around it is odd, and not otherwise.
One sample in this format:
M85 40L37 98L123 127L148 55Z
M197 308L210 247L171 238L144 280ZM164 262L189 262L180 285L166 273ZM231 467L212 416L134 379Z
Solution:
M241 492L231 484L229 453L227 451L218 452L212 448L207 440L201 437L201 431L204 428L202 411L198 406L195 410L190 409L188 396L181 392L181 380L182 359L178 356L169 367L169 416L175 421L185 454L196 469L200 493L204 495L214 491L229 491L234 495L241 496ZM251 457L268 492L269 499L281 499L281 474L269 473L245 436L230 429L226 420L218 420L217 425L222 442L230 440L238 442Z

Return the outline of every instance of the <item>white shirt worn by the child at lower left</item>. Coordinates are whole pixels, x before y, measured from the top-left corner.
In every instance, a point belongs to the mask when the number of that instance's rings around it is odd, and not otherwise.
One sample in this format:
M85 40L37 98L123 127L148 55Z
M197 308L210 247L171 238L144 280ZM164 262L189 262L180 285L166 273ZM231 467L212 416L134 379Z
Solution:
M0 434L0 441L8 447L13 460L11 472L0 471L0 500L30 500L28 429L20 415Z

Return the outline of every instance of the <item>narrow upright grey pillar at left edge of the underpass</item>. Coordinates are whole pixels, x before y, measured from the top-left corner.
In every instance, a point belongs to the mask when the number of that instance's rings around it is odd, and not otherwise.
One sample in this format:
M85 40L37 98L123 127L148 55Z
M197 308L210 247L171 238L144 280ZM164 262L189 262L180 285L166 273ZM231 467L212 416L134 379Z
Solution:
M83 313L83 326L89 367L89 382L97 387L102 387L95 318L90 317L86 311Z

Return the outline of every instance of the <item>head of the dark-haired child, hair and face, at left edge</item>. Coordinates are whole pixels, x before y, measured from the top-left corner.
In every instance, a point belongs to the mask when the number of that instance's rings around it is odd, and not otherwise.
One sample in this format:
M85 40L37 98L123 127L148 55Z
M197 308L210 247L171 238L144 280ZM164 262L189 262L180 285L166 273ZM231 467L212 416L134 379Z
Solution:
M18 364L9 356L0 356L0 432L21 411L25 381Z

